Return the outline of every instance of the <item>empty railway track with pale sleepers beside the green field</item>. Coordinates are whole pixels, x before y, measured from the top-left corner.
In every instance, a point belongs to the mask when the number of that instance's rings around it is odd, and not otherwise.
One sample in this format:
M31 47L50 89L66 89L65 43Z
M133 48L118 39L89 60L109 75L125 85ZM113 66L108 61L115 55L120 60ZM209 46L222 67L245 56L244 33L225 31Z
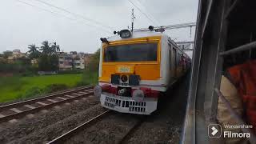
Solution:
M0 123L14 118L22 118L27 114L34 114L40 110L50 109L53 106L84 98L93 94L93 87L94 86L86 86L72 90L64 90L41 98L0 106Z

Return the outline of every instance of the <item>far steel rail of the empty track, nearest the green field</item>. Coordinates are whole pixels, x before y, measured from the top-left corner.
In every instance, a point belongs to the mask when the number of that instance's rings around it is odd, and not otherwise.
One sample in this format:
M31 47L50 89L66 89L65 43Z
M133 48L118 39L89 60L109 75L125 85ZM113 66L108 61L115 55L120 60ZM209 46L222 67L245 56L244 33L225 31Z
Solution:
M35 102L44 101L44 100L49 99L49 98L58 97L58 96L61 96L63 94L70 94L70 93L74 93L74 92L79 91L79 90L92 89L93 87L94 86L79 87L79 88L72 89L72 90L60 91L58 93L53 93L53 94L46 95L46 96L43 96L43 97L40 97L40 98L33 98L33 99L22 101L22 102L15 102L15 103L11 103L11 104L8 104L8 105L0 106L0 110L2 111L2 110L7 110L7 109L10 109L10 108L18 107L18 106L29 105L29 104L32 104L32 103L35 103Z

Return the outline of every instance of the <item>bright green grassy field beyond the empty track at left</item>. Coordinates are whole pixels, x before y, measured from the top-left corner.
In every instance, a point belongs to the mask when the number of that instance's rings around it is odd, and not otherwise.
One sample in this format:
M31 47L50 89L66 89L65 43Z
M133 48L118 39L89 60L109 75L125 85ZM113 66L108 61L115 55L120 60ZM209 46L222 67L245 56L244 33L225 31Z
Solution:
M0 102L45 94L47 86L49 88L52 84L64 84L71 88L77 86L77 83L84 79L83 77L83 74L56 74L0 78Z

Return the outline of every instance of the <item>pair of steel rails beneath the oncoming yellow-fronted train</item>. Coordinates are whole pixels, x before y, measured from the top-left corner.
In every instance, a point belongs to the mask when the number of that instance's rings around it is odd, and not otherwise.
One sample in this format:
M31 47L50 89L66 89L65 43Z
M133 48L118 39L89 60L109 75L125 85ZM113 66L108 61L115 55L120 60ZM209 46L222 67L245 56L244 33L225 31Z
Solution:
M58 138L55 138L54 140L48 142L47 144L61 144L65 143L66 140L76 136L82 130L86 130L86 128L89 128L90 126L94 126L97 122L101 121L103 118L106 118L107 116L110 116L110 110L106 110L102 114L99 114L98 116L90 119L87 122L82 123L82 125L75 127L73 130L70 130L66 132L65 134L62 134ZM135 130L138 129L139 126L141 126L142 122L144 122L145 117L139 118L138 122L136 122L133 126L130 126L130 129L126 131L125 134L122 135L122 138L118 138L118 143L124 143L126 142L129 138L130 135L134 133Z

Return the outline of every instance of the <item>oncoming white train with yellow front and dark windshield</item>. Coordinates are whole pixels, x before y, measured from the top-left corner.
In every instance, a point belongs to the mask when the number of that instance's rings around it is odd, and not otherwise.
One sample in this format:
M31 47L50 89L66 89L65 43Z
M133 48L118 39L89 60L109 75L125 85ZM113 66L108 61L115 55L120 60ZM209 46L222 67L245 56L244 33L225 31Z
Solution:
M163 30L114 31L100 38L98 86L103 107L121 113L152 114L158 99L190 69L191 59Z

